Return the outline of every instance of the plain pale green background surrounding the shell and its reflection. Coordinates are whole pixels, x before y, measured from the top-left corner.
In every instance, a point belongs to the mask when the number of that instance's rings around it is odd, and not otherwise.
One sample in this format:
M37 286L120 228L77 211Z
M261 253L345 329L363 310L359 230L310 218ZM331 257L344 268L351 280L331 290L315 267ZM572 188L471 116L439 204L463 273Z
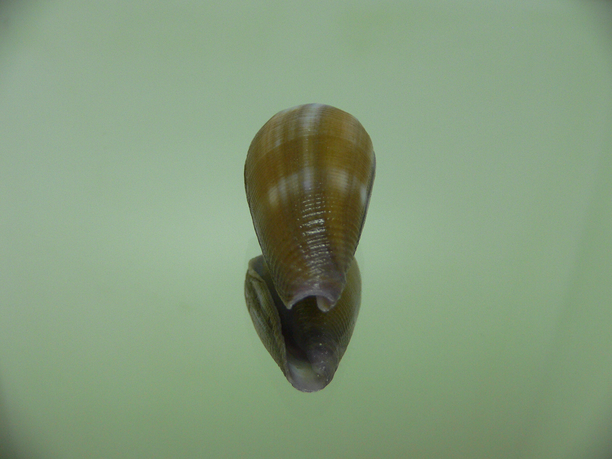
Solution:
M0 455L612 450L610 2L4 2L0 33ZM242 291L248 144L308 102L378 166L316 394Z

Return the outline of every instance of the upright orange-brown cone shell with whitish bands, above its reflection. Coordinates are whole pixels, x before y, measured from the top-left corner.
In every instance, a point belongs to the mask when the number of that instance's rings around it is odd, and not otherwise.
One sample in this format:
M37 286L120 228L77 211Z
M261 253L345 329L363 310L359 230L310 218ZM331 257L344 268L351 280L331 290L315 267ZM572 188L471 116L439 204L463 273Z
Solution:
M253 138L244 182L253 225L287 308L338 302L364 226L376 159L356 118L329 105L275 114Z

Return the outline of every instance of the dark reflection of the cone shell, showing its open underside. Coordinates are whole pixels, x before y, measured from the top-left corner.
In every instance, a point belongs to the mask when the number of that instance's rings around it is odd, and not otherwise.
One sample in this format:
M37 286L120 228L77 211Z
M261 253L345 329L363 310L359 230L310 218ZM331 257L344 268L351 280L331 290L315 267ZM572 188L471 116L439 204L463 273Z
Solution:
M244 293L255 330L289 383L302 392L327 386L359 314L361 277L357 261L349 264L346 288L329 312L319 310L313 297L287 309L261 255L248 263Z

